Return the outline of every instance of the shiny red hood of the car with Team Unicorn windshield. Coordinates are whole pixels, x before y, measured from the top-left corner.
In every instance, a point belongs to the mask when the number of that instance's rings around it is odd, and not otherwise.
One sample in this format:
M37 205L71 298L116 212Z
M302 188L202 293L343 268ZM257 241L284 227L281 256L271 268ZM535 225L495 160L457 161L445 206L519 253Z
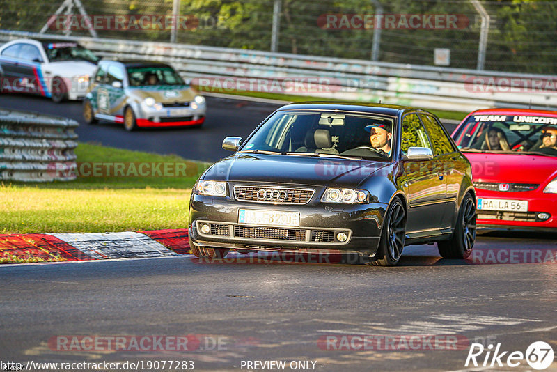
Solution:
M464 153L472 177L482 182L544 183L557 176L557 157L542 155Z

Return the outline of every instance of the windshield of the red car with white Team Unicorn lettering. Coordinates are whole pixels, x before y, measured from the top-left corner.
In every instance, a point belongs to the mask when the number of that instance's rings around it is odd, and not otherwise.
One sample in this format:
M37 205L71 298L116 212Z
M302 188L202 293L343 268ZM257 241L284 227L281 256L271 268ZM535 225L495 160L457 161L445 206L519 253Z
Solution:
M471 115L453 139L463 151L557 156L557 118Z

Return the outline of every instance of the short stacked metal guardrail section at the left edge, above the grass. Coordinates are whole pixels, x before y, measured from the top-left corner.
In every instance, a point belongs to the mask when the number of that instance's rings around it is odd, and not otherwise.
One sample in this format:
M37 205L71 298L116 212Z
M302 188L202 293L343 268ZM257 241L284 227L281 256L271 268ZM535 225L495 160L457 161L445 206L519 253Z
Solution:
M0 180L76 178L77 121L0 109Z

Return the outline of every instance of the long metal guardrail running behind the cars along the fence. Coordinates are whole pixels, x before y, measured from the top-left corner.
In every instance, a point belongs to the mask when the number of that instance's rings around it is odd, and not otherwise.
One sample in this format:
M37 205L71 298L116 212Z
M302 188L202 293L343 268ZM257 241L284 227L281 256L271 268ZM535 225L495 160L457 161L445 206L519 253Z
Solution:
M193 78L196 85L207 91L220 91L218 84L214 84L215 79L231 79L232 86L237 88L240 81L246 90L251 91L362 102L381 100L432 109L472 111L489 107L557 107L557 84L554 84L555 77L549 75L479 72L165 42L0 30L0 41L24 37L74 40L109 59L149 59L172 63L182 75ZM251 79L251 82L246 79ZM295 88L296 79L301 80L301 89ZM308 84L313 84L313 89L303 88ZM283 91L274 91L274 86Z

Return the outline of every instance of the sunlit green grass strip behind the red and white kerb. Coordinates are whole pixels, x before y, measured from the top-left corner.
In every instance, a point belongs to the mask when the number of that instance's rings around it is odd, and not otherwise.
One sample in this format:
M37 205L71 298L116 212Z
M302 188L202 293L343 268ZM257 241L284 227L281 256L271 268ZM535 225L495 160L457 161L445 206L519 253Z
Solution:
M208 164L80 143L78 162L169 162L187 176L78 177L70 182L1 183L0 233L186 228L191 187Z

